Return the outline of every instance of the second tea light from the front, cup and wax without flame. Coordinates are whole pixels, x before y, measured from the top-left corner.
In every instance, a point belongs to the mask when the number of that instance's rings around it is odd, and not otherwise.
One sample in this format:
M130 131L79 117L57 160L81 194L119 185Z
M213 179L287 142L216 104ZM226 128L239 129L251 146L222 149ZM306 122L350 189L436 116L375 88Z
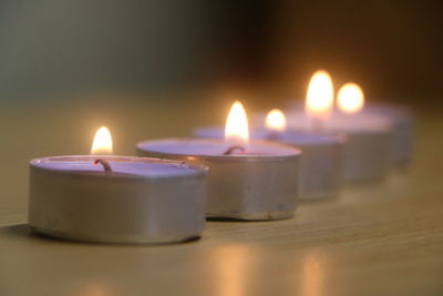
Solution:
M268 142L250 142L243 146L245 150L230 147L223 140L167 139L137 144L140 155L209 167L208 217L291 217L297 204L300 151Z

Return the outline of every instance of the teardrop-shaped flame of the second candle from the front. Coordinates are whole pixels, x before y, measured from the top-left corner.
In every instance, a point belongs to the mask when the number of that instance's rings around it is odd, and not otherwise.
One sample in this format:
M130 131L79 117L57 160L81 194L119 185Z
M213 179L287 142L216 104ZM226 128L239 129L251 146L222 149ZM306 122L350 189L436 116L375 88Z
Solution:
M241 142L248 142L248 118L241 103L236 101L230 108L228 119L226 120L225 139Z

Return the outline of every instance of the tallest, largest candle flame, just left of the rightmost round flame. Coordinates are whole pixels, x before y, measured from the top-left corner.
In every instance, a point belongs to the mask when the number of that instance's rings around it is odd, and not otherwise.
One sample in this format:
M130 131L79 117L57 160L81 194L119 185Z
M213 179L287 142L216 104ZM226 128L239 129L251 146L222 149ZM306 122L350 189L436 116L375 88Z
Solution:
M331 114L333 104L332 80L328 72L319 70L309 82L306 96L306 112L310 116L326 120Z

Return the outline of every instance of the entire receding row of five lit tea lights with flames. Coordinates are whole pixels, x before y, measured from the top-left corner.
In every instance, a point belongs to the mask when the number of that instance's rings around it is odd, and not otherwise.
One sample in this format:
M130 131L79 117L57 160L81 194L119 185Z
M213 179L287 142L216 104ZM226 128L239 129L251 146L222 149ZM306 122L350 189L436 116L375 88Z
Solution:
M334 91L318 71L305 108L256 114L235 102L225 130L195 139L140 142L116 156L101 127L91 155L30 162L29 224L42 234L101 243L172 243L199 237L206 217L290 218L298 200L339 195L347 182L382 178L411 157L412 118L365 105L356 83ZM148 156L148 157L146 157Z

